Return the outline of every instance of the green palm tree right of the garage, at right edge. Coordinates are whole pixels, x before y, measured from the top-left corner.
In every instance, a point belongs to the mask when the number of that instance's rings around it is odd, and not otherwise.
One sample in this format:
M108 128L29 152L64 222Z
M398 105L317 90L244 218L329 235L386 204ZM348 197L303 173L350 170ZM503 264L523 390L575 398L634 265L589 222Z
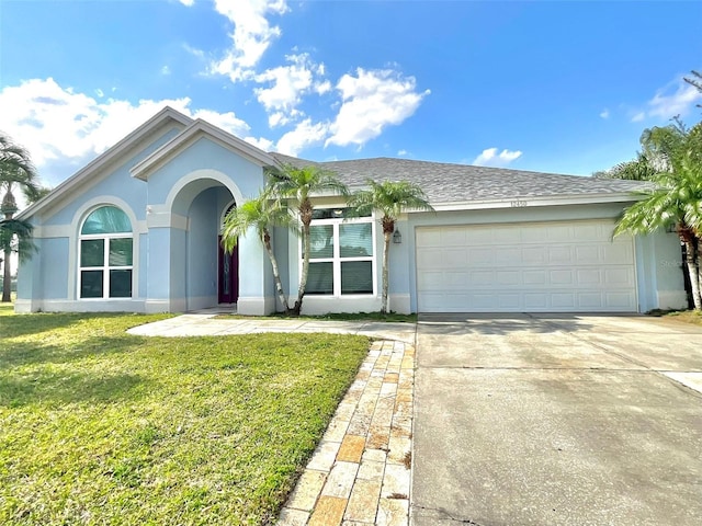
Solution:
M655 159L654 188L642 193L642 201L630 206L614 236L622 232L650 233L675 227L686 248L686 265L695 310L702 310L702 153L700 125L688 130L676 125L646 129L642 145L648 159ZM652 163L654 164L654 163Z

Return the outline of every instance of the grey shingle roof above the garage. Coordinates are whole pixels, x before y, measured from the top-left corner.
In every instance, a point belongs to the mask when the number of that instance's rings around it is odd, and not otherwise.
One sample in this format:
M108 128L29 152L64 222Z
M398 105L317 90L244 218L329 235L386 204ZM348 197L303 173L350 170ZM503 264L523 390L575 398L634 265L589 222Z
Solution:
M315 162L271 153L279 162L295 167L315 164L336 172L350 188L375 181L406 180L418 184L430 203L518 199L627 194L647 187L637 181L595 179L580 175L528 172L506 168L472 167L410 159L359 159Z

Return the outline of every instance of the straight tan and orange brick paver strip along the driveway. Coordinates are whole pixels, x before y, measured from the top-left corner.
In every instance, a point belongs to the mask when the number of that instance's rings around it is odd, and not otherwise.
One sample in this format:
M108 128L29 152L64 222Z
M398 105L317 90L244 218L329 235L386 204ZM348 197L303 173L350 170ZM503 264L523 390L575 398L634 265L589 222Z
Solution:
M415 347L376 341L279 526L409 523Z

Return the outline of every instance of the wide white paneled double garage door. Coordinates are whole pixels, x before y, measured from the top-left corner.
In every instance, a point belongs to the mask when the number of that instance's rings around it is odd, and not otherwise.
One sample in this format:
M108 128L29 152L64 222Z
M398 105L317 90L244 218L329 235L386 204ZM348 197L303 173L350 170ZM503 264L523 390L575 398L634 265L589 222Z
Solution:
M633 241L611 221L419 227L420 312L636 311Z

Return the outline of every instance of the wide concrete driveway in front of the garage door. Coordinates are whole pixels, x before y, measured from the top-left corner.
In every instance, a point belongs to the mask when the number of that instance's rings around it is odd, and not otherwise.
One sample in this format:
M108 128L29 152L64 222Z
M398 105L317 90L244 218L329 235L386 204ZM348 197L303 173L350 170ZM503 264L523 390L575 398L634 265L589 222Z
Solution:
M702 524L702 328L424 316L411 522Z

